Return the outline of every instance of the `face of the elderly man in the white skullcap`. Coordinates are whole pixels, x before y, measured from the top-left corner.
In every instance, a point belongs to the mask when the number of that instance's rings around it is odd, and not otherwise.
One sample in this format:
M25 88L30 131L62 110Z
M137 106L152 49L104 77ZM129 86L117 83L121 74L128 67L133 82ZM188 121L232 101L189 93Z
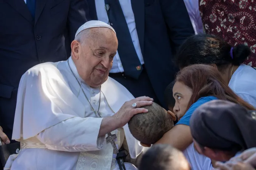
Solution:
M112 68L118 47L117 37L111 29L99 27L91 28L89 38L83 41L78 43L77 59L73 60L85 83L99 87L107 80Z

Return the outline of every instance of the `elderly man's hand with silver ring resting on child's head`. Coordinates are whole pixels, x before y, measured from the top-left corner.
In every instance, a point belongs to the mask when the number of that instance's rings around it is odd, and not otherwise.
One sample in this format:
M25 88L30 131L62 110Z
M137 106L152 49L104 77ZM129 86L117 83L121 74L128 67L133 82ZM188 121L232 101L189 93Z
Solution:
M136 107L132 106L134 103L136 103ZM132 99L130 101L126 101L122 105L122 107L118 110L118 112L115 115L113 115L113 117L118 122L118 126L123 127L125 126L126 123L128 123L128 121L130 121L130 119L134 115L138 113L148 112L147 109L139 108L139 107L152 105L152 103L153 103L153 99L146 96L142 96L139 98Z

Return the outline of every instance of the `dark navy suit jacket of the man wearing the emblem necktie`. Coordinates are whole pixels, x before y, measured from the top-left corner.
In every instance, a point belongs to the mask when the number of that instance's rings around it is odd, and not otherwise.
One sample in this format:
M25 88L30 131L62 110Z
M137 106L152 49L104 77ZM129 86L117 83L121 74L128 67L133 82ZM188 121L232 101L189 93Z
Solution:
M97 20L94 0L87 2L90 19ZM178 71L173 55L194 29L183 0L131 0L131 5L147 74L165 105L164 90Z

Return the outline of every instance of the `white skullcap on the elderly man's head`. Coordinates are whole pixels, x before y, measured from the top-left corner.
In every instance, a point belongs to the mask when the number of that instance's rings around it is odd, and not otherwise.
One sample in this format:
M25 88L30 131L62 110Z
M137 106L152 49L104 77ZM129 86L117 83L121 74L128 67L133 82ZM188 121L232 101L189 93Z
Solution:
M105 22L102 22L100 20L90 20L88 22L85 22L81 27L78 28L77 33L75 33L75 37L83 30L88 29L88 28L96 28L96 27L107 27L110 28L112 31L115 30L112 28L109 24L106 24ZM116 33L115 33L116 34Z

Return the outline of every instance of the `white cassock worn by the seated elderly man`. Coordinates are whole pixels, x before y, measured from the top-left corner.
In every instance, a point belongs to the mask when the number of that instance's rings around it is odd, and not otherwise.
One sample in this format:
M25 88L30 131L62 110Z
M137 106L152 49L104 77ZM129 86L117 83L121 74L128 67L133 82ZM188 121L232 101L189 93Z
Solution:
M68 60L97 112L99 88L83 83L72 58ZM102 84L101 91L102 117L114 115L125 101L134 99L110 77ZM22 76L18 90L12 139L21 142L21 151L9 157L5 168L118 170L113 147L105 140L107 135L98 137L102 119L92 111L67 61L34 66ZM112 134L117 135L118 149L126 139L131 158L141 154L143 147L131 135L128 124ZM129 163L126 166L126 170L135 167Z

